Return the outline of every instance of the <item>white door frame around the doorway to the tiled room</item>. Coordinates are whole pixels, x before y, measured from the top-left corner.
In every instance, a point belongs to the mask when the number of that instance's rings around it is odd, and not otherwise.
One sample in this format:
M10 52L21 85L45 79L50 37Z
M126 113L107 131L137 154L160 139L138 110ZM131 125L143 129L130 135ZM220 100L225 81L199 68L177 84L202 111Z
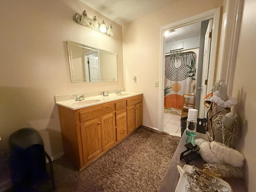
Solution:
M165 54L165 38L164 38L164 31L170 30L170 29L176 29L180 28L186 25L194 24L196 22L202 22L204 20L213 19L212 22L212 43L211 43L211 54L210 54L210 63L209 63L209 71L212 73L209 73L210 76L208 76L208 85L213 85L214 83L214 69L215 64L217 61L216 58L216 52L217 52L217 43L218 43L218 30L219 30L219 22L220 22L220 7L215 8L206 12L203 12L201 14L197 14L194 16L191 16L189 18L185 18L183 20L179 20L177 22L162 26L160 28L160 70L159 70L159 103L158 103L158 130L163 131L163 119L164 119L164 54ZM217 70L220 70L221 67L218 67ZM216 74L220 74L220 71L217 71ZM216 76L216 79L219 79L220 76Z

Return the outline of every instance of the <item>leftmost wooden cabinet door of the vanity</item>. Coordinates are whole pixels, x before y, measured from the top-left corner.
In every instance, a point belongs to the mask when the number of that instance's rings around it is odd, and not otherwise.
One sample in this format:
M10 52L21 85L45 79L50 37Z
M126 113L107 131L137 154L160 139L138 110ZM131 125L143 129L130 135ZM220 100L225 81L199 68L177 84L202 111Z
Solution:
M84 164L102 152L100 118L80 125Z

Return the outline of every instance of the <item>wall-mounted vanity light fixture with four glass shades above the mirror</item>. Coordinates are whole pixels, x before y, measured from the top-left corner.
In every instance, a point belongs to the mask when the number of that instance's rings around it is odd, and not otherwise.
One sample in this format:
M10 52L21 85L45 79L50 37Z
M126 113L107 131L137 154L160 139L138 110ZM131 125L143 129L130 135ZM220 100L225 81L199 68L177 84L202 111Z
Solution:
M84 10L81 15L75 14L73 19L80 25L86 26L94 31L98 31L100 33L103 33L107 36L112 36L113 35L113 30L111 24L106 27L106 24L104 20L100 22L100 26L98 24L96 16L94 16L91 20L88 19L87 13Z

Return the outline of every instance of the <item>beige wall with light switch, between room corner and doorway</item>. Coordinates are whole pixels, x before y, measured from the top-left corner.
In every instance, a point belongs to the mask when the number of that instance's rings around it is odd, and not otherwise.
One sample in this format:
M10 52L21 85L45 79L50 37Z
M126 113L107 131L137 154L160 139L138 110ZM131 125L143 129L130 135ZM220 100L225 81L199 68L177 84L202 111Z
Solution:
M200 6L199 6L200 5ZM126 90L144 95L143 124L158 128L160 27L223 6L223 0L176 1L123 28L124 84ZM133 83L132 76L137 77Z

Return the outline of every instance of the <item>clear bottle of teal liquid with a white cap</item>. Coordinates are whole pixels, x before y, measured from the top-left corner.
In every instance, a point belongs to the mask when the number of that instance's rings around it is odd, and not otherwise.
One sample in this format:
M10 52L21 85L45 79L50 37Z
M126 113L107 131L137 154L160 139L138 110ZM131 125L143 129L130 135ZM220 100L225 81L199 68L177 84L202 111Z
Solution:
M188 109L188 118L186 124L186 140L185 143L195 145L197 124L197 109Z

